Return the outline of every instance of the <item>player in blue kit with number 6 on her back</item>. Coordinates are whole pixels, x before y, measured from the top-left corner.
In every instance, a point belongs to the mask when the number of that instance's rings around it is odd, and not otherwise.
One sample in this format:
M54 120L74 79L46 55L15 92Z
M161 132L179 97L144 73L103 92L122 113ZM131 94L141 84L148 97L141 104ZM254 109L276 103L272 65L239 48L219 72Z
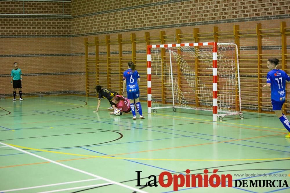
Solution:
M142 107L139 102L139 82L140 82L140 76L137 70L135 69L135 64L131 61L128 62L128 70L126 70L123 73L123 95L125 94L125 88L127 90L127 98L130 101L130 107L132 110L133 118L136 119L136 111L134 107L134 99L136 102L136 107L140 114L140 119L145 119L142 115Z

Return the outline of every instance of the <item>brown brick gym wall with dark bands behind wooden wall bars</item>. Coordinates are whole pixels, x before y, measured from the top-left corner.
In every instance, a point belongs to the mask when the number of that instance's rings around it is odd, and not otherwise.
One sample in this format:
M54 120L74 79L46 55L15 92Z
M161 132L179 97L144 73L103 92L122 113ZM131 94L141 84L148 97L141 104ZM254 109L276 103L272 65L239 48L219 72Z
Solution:
M240 25L240 30L253 30L241 33L250 34L255 33L257 23L261 23L263 29L279 28L281 21L286 21L288 28L290 26L290 0L25 1L24 5L26 14L38 15L0 15L1 96L12 95L9 74L14 61L26 74L23 75L23 93L84 93L84 37L93 41L98 36L104 42L106 35L115 41L117 34L129 40L130 35L135 33L136 38L144 39L145 32L159 36L160 30L164 30L168 36L166 43L175 43L176 29L180 29L182 34L192 34L194 27L199 27L204 33L213 32L213 27L218 26L218 31L225 32L233 31L233 25ZM0 14L21 13L23 1L0 0ZM289 39L287 35L287 45L290 45ZM213 41L213 38L201 41ZM229 42L233 38L219 38L219 41ZM241 52L257 53L256 41L256 36L241 37ZM263 36L262 46L263 54L280 54L281 36ZM289 53L290 48L287 49ZM137 43L136 50L138 58L146 59L145 43ZM112 45L111 56L117 57L117 53L118 47ZM123 56L129 60L131 53L131 44L125 43ZM94 57L94 48L89 49L89 54ZM100 58L106 59L106 46L100 46L99 54ZM265 60L267 57L263 56ZM139 67L145 62L137 64ZM265 67L265 61L263 65ZM123 67L126 68L126 61ZM41 80L37 86L35 80ZM143 86L146 86L145 81ZM114 86L114 89L119 88ZM144 95L145 91L142 92Z

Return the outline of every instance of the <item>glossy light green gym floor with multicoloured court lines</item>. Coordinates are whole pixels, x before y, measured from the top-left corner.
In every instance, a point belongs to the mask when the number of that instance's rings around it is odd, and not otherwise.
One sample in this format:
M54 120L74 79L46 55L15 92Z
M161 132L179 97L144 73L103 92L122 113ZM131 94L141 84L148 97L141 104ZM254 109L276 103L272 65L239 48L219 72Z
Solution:
M145 119L132 120L109 115L107 100L96 106L77 95L1 99L0 192L290 192L290 139L274 114L212 122L204 111L147 114L142 102ZM251 186L267 180L278 187Z

